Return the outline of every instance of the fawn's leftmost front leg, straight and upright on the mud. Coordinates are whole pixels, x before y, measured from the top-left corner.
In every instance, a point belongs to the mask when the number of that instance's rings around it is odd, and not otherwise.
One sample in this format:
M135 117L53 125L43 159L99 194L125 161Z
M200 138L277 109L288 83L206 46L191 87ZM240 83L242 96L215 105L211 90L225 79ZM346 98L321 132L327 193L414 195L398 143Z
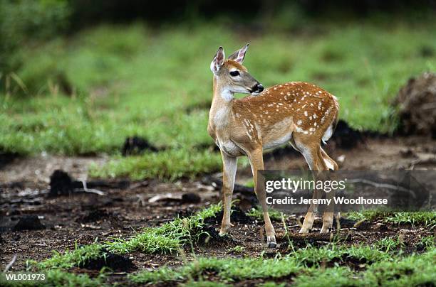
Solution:
M237 171L237 158L227 156L221 151L222 156L222 194L224 197L224 215L222 216L221 229L219 235L223 236L232 227L230 223L230 207L232 206L232 195L234 188L234 178Z

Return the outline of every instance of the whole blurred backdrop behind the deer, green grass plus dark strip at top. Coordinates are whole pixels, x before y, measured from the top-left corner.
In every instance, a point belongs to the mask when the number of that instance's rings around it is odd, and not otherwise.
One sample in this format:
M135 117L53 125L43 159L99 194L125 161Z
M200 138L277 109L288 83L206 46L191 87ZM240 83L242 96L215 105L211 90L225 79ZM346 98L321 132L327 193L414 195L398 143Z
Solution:
M351 3L350 3L351 2ZM356 2L356 3L355 3ZM264 86L313 82L355 129L393 133L390 102L436 65L436 2L0 0L0 152L108 154L100 177L220 169L209 63L251 43ZM242 95L240 95L242 97ZM127 136L158 153L120 156Z

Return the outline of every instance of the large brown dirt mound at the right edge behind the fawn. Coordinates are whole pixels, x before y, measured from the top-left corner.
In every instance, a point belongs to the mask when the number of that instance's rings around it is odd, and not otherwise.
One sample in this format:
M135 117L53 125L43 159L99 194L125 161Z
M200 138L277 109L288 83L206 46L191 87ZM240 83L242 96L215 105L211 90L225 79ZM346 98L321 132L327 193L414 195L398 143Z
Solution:
M394 102L400 117L400 133L436 139L436 74L425 72L410 78Z

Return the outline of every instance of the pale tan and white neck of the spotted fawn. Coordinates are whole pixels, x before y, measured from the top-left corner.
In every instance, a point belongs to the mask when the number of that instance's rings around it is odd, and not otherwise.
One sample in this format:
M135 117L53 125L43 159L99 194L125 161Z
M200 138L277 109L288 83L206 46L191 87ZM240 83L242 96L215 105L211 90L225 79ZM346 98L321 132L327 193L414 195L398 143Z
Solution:
M214 78L214 97L209 112L209 122L217 129L227 126L233 119L233 93L218 85Z

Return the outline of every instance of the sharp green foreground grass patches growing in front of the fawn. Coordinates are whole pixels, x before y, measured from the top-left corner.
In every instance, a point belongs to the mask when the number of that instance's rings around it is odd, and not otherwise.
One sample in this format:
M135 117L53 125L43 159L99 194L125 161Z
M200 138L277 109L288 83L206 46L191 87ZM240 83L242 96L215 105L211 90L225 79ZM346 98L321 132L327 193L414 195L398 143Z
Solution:
M76 246L75 250L63 254L55 252L49 259L33 262L33 266L51 272L49 282L53 286L67 281L78 286L101 285L103 273L98 278L89 278L63 270L81 266L107 252L175 254L184 247L192 247L202 234L204 220L221 209L221 205L211 205L190 217L144 229L130 239ZM263 252L257 258L194 256L179 267L161 266L154 271L128 274L128 280L135 284L186 283L187 286L223 286L244 280L268 280L266 286L280 280L292 281L296 286L425 286L436 280L435 237L422 237L420 244L425 247L425 253L410 256L401 251L404 244L400 237L385 237L370 245L331 242L314 247L308 244L289 249L283 255L277 253L274 259L264 258ZM237 245L228 251L243 255L245 248ZM214 281L209 281L211 274Z

